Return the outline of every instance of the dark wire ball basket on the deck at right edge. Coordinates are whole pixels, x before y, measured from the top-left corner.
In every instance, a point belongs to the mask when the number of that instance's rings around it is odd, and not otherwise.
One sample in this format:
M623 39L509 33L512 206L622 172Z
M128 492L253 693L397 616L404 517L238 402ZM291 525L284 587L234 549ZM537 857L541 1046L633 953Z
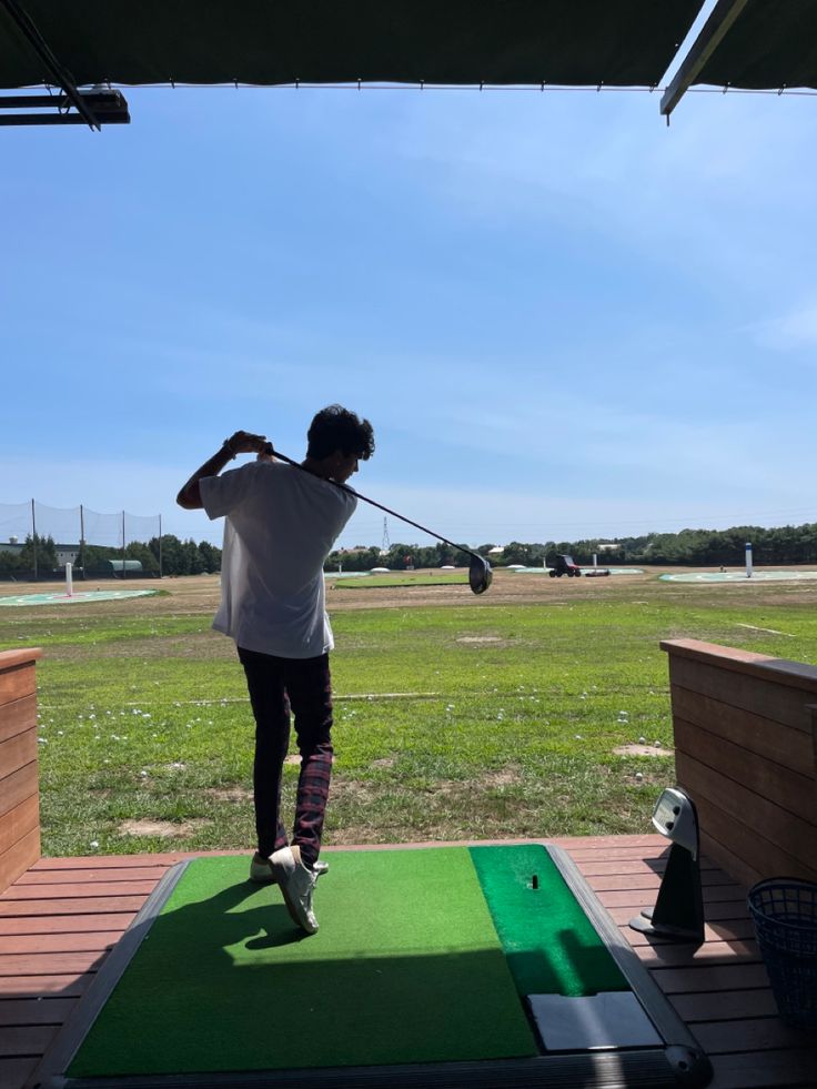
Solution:
M817 885L758 881L749 912L780 1017L795 1028L817 1027Z

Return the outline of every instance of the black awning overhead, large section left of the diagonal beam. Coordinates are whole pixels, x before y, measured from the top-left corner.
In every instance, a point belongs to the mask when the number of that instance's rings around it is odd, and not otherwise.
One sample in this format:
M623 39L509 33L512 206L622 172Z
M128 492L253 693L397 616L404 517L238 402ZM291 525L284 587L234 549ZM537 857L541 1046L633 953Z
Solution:
M16 2L77 87L356 80L655 87L703 0ZM0 87L51 82L0 0Z

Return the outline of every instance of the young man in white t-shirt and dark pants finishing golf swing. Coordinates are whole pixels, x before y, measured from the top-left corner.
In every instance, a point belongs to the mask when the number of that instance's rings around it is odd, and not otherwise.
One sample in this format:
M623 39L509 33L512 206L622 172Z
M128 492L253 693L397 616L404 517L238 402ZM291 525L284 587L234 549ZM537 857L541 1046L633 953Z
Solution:
M224 522L218 632L235 641L255 719L253 795L258 850L250 878L281 888L292 919L317 930L312 906L332 774L334 646L325 611L323 564L357 500L337 487L374 453L374 433L341 405L319 412L296 472L271 453L265 435L224 440L176 502ZM256 460L222 473L239 454ZM292 843L281 821L281 783L290 710L301 754Z

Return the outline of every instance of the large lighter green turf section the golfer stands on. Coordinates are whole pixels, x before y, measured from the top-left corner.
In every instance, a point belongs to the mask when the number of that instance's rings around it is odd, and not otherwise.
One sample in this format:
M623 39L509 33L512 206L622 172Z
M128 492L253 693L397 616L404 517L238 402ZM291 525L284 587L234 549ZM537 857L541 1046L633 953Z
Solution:
M246 870L190 863L70 1077L538 1053L467 848L333 851L309 938Z

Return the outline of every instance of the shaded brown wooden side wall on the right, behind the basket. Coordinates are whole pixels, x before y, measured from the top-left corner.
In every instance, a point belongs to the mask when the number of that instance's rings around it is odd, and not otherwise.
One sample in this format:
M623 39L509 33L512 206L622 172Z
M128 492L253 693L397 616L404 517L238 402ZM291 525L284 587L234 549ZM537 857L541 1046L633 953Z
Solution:
M662 647L702 850L745 886L817 881L817 668L695 639Z

